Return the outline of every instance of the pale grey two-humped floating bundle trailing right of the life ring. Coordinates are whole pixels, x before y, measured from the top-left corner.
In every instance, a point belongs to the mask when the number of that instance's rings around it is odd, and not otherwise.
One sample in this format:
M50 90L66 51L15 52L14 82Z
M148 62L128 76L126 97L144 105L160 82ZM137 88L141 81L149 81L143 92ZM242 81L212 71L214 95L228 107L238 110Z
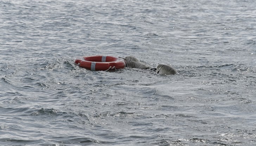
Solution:
M122 59L126 62L126 67L128 68L150 69L151 71L156 71L156 73L158 74L175 74L176 73L175 69L172 68L170 65L159 64L157 68L152 68L148 65L142 64L137 58L133 56L127 56Z

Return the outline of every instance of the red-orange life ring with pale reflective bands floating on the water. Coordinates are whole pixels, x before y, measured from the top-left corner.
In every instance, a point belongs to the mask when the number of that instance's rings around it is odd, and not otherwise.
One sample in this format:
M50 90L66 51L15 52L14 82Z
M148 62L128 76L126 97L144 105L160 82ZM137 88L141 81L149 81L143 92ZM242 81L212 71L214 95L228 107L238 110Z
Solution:
M86 56L75 59L80 67L90 71L109 71L125 67L126 63L122 58L112 56Z

